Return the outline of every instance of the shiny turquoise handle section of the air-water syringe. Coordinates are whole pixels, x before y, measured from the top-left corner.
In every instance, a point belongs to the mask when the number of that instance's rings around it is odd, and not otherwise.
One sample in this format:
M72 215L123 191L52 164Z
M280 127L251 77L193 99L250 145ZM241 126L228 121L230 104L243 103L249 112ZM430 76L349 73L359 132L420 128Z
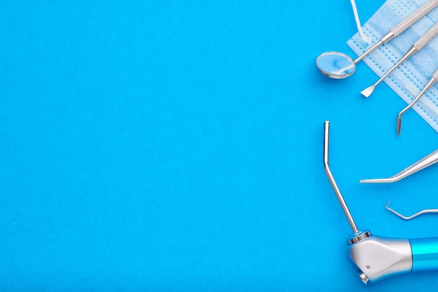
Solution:
M409 239L412 271L438 270L438 237Z

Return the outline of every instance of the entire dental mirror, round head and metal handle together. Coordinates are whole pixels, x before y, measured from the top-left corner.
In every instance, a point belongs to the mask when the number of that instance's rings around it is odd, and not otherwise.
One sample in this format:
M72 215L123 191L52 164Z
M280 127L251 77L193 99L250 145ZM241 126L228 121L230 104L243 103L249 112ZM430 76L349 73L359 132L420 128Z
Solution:
M398 25L388 32L388 34L382 36L371 48L365 53L360 55L356 60L353 60L350 56L339 52L326 52L322 53L316 58L316 66L320 69L321 73L327 77L341 79L353 75L356 69L356 64L360 62L367 55L372 53L376 48L387 43L391 39L402 34L408 27L414 25L415 22L423 18L424 15L432 11L433 8L438 6L438 0L430 0L416 11L414 11L407 18L402 20Z

